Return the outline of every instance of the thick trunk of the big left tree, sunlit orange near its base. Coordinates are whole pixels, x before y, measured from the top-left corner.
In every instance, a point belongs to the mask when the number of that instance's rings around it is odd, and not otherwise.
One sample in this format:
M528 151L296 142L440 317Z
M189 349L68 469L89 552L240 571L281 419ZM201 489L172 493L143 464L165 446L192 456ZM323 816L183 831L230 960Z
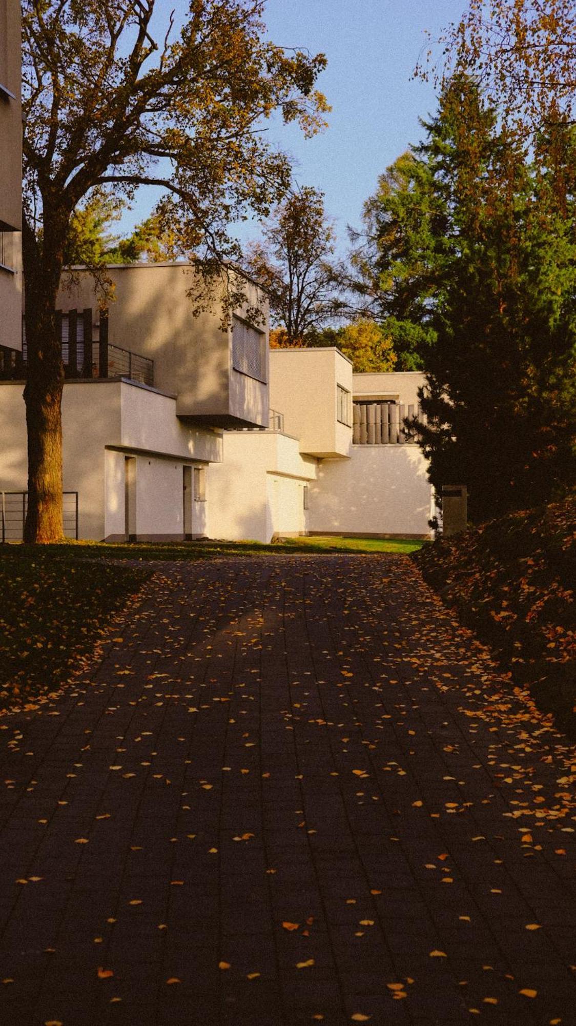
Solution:
M46 214L46 210L44 211ZM66 216L44 216L42 249L24 228L27 382L24 390L28 429L28 512L24 540L59 542L63 530L61 393L64 367L56 332L55 306L64 261Z

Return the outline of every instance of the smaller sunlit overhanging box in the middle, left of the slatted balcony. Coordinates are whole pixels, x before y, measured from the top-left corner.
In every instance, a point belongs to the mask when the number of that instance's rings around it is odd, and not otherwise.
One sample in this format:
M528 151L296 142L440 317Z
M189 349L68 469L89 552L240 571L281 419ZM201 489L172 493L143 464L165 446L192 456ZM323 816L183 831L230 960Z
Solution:
M284 430L300 452L324 459L352 449L352 363L333 347L273 349L270 404L284 415Z

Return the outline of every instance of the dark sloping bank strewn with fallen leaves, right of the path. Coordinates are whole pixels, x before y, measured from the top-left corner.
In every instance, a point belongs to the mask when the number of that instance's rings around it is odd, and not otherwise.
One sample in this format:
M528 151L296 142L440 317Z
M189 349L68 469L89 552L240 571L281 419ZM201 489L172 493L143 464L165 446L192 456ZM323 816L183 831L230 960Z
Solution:
M576 737L576 498L424 546L425 581Z

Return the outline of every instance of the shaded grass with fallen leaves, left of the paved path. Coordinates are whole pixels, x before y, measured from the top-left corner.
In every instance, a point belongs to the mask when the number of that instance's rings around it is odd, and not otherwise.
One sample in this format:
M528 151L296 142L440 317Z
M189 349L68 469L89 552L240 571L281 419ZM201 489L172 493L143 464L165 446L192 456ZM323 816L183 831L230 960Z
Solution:
M82 666L151 571L63 562L24 546L4 548L2 556L0 710L34 708Z

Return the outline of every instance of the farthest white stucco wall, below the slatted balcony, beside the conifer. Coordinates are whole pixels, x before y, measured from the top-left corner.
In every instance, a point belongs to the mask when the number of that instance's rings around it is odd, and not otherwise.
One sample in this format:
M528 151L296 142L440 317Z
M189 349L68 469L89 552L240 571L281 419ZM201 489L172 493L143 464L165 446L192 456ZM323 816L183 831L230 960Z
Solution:
M431 497L417 445L354 445L349 460L321 462L310 487L308 529L427 537Z

